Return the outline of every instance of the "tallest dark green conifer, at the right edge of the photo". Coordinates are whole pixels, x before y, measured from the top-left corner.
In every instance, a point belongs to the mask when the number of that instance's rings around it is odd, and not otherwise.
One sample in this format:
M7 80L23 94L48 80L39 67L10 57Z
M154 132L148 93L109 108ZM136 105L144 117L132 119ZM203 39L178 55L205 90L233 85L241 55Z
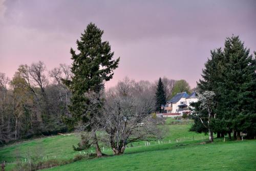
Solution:
M222 112L225 120L231 120L231 128L237 132L253 133L252 121L256 113L256 62L249 49L238 36L226 39L224 48L224 67L221 75ZM254 136L250 135L250 136ZM234 135L236 137L236 135Z

